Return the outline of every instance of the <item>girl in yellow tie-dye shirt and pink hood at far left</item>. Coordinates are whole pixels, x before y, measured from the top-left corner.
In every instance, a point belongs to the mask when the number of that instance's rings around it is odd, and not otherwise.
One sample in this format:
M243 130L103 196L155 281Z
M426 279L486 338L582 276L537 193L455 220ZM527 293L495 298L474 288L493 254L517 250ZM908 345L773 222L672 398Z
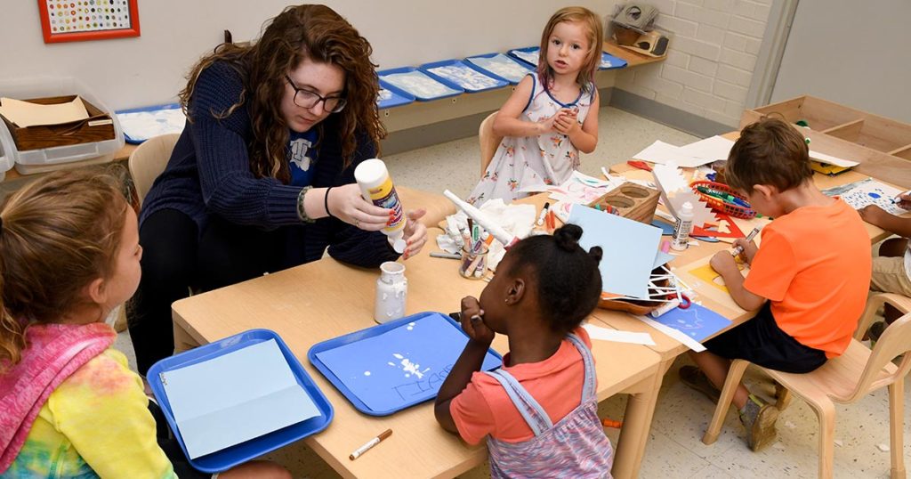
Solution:
M142 380L110 349L104 318L136 291L142 255L120 192L105 174L56 172L0 206L2 477L209 475L162 450Z

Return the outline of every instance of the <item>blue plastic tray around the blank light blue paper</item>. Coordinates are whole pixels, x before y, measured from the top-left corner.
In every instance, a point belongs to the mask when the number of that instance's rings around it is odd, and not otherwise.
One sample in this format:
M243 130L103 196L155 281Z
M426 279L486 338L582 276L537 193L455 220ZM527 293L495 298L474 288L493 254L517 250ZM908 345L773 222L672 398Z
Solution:
M320 410L321 415L308 419L307 421L298 422L288 427L281 428L278 431L270 432L251 439L250 441L235 444L227 449L222 449L219 452L206 454L197 457L196 459L189 459L187 446L183 443L183 438L180 436L180 432L177 428L177 422L174 421L174 414L171 412L168 395L165 394L161 381L154 379L158 378L159 374L162 372L178 370L192 364L219 357L223 354L230 353L231 351L268 341L269 339L275 339L276 344L278 344L279 349L281 349L281 354L284 355L285 360L288 361L288 367L291 368L294 377L297 379L297 383L310 394L313 403L316 404L316 408ZM307 371L303 370L301 362L294 357L291 349L288 349L288 345L281 340L281 337L277 333L269 329L251 329L249 331L244 331L241 334L231 336L230 338L224 338L201 346L200 348L192 349L171 356L170 358L161 359L148 369L148 378L148 385L151 387L152 393L155 394L155 399L159 401L159 407L161 408L161 411L164 412L170 429L174 432L174 436L180 444L180 449L187 455L189 463L203 473L218 473L230 469L235 465L246 463L264 453L269 453L270 451L274 451L311 434L321 432L323 429L326 429L326 427L329 426L329 422L332 422L333 420L333 405L330 404L329 400L322 394L322 390L316 386L316 383L313 382L310 375L307 374Z

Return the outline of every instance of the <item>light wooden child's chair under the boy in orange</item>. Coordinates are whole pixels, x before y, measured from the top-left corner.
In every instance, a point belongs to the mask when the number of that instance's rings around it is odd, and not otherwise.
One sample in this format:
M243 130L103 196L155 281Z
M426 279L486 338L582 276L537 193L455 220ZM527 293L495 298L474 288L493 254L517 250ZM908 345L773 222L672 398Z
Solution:
M876 310L888 303L898 308L905 316L898 318L885 329L873 350L860 342L876 314ZM851 404L865 395L884 387L889 390L889 431L892 479L905 477L904 447L904 391L905 376L911 369L911 298L894 294L878 294L867 301L855 337L842 356L829 359L818 370L806 374L791 374L763 368L773 380L806 401L819 419L819 477L832 477L834 461L834 402ZM904 357L896 366L892 360ZM735 359L727 380L724 381L722 396L711 418L708 431L702 436L702 443L711 444L718 439L722 422L731 406L734 391L740 383L743 371L749 361Z

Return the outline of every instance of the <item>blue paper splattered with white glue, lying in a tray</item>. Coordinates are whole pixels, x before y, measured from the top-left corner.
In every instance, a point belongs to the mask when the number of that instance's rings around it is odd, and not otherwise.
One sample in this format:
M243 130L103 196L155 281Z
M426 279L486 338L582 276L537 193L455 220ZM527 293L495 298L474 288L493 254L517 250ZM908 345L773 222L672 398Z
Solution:
M467 342L445 318L429 315L316 357L372 411L390 411L434 398ZM488 352L482 369L501 364Z

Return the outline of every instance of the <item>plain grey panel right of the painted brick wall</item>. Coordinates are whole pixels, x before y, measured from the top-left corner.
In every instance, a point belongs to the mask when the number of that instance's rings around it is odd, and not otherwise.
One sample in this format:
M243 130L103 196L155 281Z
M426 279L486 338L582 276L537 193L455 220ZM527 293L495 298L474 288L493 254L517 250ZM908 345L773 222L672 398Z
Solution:
M911 123L911 2L797 5L772 100L813 95Z

